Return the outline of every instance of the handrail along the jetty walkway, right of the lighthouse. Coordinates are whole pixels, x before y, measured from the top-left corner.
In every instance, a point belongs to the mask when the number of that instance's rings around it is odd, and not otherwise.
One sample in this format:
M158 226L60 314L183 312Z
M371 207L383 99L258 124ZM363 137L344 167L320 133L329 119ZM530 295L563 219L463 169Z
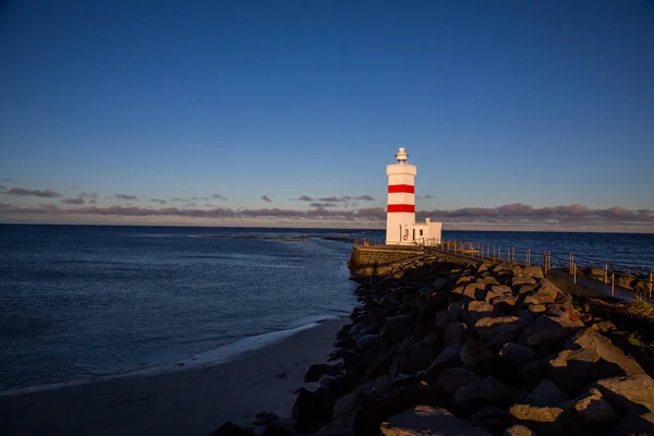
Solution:
M545 274L550 269L565 271L572 276L574 284L577 284L577 276L586 276L604 284L610 284L614 295L616 286L640 295L647 293L650 300L654 290L654 271L651 269L598 262L590 256L578 256L572 253L538 253L532 252L529 247L502 247L470 241L444 241L434 249L476 259L512 262L523 266L536 265L543 267Z

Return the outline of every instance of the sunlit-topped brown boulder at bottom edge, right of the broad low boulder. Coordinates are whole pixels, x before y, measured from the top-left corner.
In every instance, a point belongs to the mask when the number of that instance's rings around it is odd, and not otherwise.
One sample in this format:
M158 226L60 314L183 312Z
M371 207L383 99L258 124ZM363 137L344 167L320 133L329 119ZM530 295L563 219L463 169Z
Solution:
M560 408L514 404L509 409L509 413L518 424L541 436L579 434L572 419Z

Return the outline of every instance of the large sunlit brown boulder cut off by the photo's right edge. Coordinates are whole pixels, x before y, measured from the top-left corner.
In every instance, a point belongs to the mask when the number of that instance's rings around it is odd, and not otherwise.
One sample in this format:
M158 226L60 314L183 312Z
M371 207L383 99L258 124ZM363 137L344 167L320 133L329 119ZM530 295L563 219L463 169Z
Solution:
M654 412L654 380L646 374L604 378L589 386L593 388L620 414Z

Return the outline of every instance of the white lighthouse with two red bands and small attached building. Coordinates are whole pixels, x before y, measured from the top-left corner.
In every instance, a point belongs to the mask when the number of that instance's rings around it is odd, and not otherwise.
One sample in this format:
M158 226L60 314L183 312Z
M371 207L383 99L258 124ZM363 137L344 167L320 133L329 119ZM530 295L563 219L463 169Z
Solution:
M400 148L396 162L386 167L388 175L388 208L386 213L386 244L388 245L435 245L440 243L443 225L415 222L415 174L416 168L409 164L409 155Z

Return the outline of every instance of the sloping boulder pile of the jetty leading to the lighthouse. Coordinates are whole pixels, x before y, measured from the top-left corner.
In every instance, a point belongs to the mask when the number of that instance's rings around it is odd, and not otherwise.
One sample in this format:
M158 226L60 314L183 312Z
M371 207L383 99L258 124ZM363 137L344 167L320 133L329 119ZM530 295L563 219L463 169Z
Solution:
M423 256L359 280L330 363L306 375L320 387L264 435L654 434L649 358L541 268Z

